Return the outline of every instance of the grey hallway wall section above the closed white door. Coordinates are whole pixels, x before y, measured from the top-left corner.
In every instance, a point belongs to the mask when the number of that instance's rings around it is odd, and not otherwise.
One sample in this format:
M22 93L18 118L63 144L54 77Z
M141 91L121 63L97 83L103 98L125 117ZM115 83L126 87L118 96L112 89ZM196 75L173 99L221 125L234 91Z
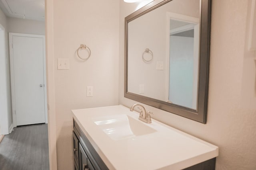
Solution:
M8 32L45 35L44 21L8 18Z

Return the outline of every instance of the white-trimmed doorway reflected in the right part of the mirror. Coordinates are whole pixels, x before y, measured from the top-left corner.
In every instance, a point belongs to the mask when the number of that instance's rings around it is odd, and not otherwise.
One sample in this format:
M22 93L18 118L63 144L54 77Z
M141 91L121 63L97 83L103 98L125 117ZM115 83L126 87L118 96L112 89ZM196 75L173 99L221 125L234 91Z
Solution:
M198 7L199 7L199 0ZM200 19L169 13L170 34L167 55L166 101L196 109L198 93Z

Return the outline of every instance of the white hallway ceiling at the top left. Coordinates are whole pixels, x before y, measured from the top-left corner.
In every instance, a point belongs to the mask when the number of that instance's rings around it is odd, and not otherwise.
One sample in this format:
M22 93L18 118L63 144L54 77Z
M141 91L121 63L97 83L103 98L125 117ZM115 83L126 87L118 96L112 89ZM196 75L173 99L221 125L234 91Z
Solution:
M0 0L0 8L11 18L44 21L44 0Z

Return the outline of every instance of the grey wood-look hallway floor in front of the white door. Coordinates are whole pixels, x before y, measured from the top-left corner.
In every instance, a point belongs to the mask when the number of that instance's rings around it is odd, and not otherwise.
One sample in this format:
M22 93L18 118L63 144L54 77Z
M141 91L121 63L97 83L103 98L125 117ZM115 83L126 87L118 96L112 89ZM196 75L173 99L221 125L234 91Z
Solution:
M0 170L49 170L47 124L15 127L0 143Z

